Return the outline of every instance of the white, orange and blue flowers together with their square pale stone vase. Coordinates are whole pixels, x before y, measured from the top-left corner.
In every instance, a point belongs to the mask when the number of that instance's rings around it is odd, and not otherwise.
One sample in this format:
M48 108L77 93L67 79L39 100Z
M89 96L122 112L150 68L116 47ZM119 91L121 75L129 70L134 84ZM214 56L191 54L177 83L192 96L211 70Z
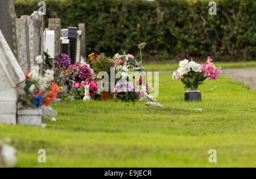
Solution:
M23 94L19 94L18 123L39 126L43 123L43 111L40 107L49 106L59 93L59 86L50 83L53 71L46 70L45 76L39 74L39 66L32 66L30 72L25 72L26 82ZM47 88L48 85L48 88Z

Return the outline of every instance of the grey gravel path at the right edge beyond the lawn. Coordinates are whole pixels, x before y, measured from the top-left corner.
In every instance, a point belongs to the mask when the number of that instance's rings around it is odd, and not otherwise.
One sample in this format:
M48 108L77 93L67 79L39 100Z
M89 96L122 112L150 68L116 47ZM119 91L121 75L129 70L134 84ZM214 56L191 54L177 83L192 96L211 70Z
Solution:
M222 70L222 74L230 78L242 81L256 90L256 68L232 68Z

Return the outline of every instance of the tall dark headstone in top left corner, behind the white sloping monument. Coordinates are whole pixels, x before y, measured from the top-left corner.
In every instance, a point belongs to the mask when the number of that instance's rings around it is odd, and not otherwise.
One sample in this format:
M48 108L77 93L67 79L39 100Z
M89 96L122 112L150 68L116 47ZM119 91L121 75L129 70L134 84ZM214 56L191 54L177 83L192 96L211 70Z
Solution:
M10 48L13 50L15 57L18 57L16 44L16 27L15 27L15 5L14 0L0 1L0 30Z

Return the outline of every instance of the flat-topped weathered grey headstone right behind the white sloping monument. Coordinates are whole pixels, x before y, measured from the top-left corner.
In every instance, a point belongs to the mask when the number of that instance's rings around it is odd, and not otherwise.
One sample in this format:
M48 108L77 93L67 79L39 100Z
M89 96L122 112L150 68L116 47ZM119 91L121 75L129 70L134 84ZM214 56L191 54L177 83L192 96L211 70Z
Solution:
M30 45L27 19L16 19L18 63L23 72L30 70Z

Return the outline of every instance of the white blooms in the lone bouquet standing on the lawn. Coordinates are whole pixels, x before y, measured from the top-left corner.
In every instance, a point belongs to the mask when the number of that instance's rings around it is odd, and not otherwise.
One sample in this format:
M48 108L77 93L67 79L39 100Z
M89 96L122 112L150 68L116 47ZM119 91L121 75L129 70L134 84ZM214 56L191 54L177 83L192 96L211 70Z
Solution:
M191 60L191 62L188 62L188 60L180 61L179 68L174 72L172 75L173 79L180 80L183 76L187 75L188 72L191 70L194 72L202 72L201 65L195 63L195 61Z

